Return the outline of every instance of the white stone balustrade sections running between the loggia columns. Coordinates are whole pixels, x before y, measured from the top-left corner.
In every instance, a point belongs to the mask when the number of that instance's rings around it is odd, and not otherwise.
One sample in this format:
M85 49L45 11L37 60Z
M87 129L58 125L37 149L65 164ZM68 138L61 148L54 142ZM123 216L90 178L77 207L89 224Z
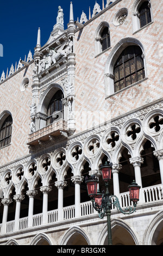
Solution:
M146 187L142 189L144 203L155 202L162 200L162 185L155 185L152 187ZM129 192L120 194L120 205L122 208L126 208L131 205ZM67 206L63 208L64 220L71 220L75 218L75 205ZM97 214L96 210L93 209L92 202L80 203L80 216L88 216ZM48 211L48 223L57 223L58 222L58 210ZM14 231L15 221L7 222L6 233L12 233ZM33 216L33 227L39 227L42 225L42 214L37 214ZM21 218L19 220L19 230L24 230L28 228L28 217ZM0 233L2 230L2 224L0 224Z

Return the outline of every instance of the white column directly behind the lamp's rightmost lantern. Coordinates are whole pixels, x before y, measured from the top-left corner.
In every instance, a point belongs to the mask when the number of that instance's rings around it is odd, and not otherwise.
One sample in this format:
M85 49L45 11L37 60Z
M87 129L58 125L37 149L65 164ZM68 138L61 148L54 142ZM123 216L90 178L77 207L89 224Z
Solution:
M139 202L144 202L143 200L143 193L142 193L142 180L141 180L141 169L140 166L143 163L143 158L140 156L136 156L129 159L130 163L134 166L135 171L135 182L137 185L141 186L140 188L140 196L139 196Z

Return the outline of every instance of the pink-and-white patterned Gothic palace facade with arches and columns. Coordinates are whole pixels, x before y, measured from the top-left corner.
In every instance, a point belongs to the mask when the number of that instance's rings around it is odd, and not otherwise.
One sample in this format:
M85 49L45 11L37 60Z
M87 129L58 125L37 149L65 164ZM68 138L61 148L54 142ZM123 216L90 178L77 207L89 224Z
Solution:
M95 1L0 80L0 245L106 245L85 177L112 162L113 245L163 243L162 3ZM101 2L101 3L97 3ZM63 8L63 9L62 9ZM57 10L56 10L57 13Z

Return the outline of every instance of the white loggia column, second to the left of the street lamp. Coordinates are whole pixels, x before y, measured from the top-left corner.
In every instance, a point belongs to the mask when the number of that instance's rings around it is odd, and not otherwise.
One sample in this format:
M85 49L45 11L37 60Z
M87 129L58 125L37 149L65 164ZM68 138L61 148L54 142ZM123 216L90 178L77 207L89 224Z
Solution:
M58 187L58 221L64 220L64 187L67 186L67 181L56 181L55 186Z

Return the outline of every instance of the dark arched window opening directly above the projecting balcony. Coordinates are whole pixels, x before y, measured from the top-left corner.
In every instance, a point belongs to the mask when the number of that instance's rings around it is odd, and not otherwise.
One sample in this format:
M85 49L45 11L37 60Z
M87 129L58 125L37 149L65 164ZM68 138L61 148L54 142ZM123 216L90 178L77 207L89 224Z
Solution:
M62 99L64 95L61 90L54 94L47 108L46 125L52 124L53 121L63 118L64 110L62 106Z

